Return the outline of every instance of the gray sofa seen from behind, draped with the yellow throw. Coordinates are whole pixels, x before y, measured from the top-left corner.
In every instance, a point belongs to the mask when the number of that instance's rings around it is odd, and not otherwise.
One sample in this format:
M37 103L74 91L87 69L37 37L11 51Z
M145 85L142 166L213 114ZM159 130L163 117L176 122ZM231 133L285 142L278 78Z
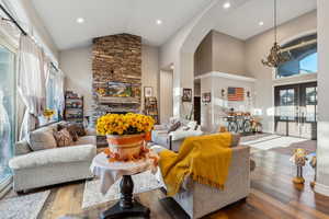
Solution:
M157 152L166 150L159 146L155 146L152 149ZM163 182L160 173L158 178ZM232 148L231 165L224 191L198 184L191 177L186 177L173 199L192 219L195 219L246 198L249 192L250 148L238 146Z

